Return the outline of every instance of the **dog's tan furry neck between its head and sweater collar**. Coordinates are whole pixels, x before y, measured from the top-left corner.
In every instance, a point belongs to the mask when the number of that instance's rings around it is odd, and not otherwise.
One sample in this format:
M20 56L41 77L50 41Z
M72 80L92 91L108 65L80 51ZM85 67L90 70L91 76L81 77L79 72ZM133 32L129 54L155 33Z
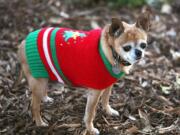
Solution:
M101 34L102 50L106 58L108 59L108 61L111 63L111 65L115 65L116 61L113 57L113 52L111 49L111 45L113 44L113 41L111 41L111 39L109 38L108 32L109 32L109 26L105 26ZM132 65L124 66L120 63L118 64L119 64L120 70L124 71L126 74L129 74Z

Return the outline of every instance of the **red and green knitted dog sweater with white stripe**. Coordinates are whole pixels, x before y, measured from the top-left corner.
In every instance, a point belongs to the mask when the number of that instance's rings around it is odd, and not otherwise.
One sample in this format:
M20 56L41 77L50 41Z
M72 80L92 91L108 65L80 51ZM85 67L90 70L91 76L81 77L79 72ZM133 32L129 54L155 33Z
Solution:
M103 90L124 75L115 74L100 43L101 29L43 28L26 38L25 52L35 78Z

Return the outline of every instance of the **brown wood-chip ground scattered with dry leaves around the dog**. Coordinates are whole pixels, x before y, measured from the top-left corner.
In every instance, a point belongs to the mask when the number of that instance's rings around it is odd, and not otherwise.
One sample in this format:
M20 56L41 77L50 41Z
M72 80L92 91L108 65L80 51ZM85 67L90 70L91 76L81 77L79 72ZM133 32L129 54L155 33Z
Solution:
M101 1L83 6L58 0L0 0L0 134L88 134L82 122L87 92L83 89L50 83L54 103L41 108L49 127L36 127L32 121L26 80L14 86L18 44L30 31L45 26L88 30L103 27L112 16L133 22L140 12L141 8L111 9ZM110 103L120 116L97 109L94 123L102 135L180 135L179 24L178 12L155 12L146 57L113 87Z

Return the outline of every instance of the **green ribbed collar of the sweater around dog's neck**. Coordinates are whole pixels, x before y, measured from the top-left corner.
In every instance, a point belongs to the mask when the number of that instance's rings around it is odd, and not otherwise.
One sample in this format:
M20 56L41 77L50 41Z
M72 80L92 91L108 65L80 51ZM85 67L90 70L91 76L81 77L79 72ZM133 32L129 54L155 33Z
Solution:
M109 73L114 77L114 78L121 78L122 76L125 75L125 73L123 71L121 71L120 73L115 73L113 71L113 66L111 65L111 63L109 62L109 60L106 58L103 50L102 50L102 43L101 43L101 40L99 42L99 53L100 53L100 56L104 62L104 65L106 66L107 70L109 71Z

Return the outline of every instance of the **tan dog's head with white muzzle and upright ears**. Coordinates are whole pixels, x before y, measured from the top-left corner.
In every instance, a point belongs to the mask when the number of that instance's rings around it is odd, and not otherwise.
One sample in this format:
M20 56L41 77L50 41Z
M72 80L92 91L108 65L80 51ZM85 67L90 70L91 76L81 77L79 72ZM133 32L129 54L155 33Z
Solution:
M149 14L143 13L134 24L112 18L109 27L112 47L120 57L130 64L134 64L144 57L147 47L147 31L150 25L149 16Z

